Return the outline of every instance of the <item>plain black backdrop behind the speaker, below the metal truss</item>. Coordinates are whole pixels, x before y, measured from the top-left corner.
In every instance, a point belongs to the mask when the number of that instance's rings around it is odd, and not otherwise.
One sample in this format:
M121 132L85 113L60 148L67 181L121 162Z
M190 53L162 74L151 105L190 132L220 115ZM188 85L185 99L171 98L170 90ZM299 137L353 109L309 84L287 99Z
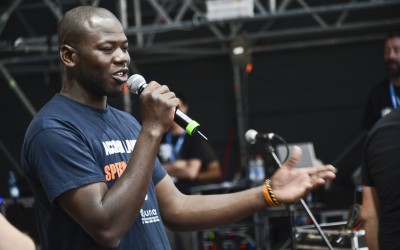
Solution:
M367 94L386 77L382 53L382 41L376 41L254 55L253 71L243 73L248 88L248 127L276 133L289 143L313 142L321 161L334 162L361 133ZM142 66L139 57L133 54L132 59L147 81L156 80L185 94L190 115L201 124L201 130L227 167L226 180L230 180L241 167L230 58ZM29 74L15 79L37 110L61 86L57 73ZM3 107L0 138L19 162L24 132L32 117L4 79L0 79L0 93ZM132 95L132 98L134 115L140 116L137 97ZM122 97L110 103L123 108ZM3 162L0 191L4 197L8 195L7 171L13 165L3 153L0 157ZM342 162L337 166L339 175L342 171L351 174L358 164L358 161Z

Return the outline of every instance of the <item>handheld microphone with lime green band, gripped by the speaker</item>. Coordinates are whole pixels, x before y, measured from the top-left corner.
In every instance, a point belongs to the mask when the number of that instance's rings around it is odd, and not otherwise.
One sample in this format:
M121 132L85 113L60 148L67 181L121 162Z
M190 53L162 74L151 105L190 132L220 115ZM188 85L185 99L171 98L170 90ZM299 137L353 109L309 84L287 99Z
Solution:
M131 77L129 77L127 85L132 93L140 95L148 84L146 83L146 80L144 79L143 76L134 74ZM184 128L186 133L188 133L189 135L198 134L205 140L208 140L207 137L205 137L199 131L200 124L197 123L195 120L192 120L189 116L187 116L178 108L175 110L174 121L179 126Z

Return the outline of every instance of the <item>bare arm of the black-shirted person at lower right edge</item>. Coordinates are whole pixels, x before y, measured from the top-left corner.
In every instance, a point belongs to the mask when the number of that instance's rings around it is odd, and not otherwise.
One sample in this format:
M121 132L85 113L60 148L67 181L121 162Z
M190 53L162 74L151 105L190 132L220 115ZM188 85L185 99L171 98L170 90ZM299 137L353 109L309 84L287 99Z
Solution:
M374 187L363 186L361 219L364 221L365 240L369 250L379 250L379 200Z

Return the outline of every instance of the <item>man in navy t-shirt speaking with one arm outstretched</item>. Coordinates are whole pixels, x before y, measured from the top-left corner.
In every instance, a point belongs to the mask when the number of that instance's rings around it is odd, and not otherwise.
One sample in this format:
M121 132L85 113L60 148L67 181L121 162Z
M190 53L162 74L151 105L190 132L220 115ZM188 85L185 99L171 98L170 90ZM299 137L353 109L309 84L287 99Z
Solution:
M163 224L221 226L293 203L335 177L330 165L293 170L295 150L265 185L182 194L157 159L180 104L175 94L150 82L140 95L141 125L107 104L128 80L128 39L118 19L80 6L65 13L58 35L62 89L31 121L21 157L43 250L170 249Z

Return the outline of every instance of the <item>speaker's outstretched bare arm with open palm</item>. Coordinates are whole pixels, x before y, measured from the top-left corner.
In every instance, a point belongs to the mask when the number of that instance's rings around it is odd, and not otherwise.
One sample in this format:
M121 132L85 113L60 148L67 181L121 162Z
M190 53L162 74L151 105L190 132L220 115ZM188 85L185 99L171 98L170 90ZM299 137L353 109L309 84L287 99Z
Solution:
M271 178L278 201L290 204L335 177L330 165L293 169L300 157L296 147L290 160ZM226 225L268 207L263 186L218 195L183 195L167 176L156 185L163 220L172 230L190 231Z

